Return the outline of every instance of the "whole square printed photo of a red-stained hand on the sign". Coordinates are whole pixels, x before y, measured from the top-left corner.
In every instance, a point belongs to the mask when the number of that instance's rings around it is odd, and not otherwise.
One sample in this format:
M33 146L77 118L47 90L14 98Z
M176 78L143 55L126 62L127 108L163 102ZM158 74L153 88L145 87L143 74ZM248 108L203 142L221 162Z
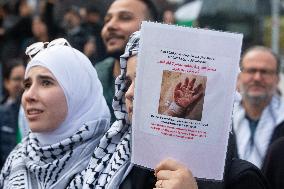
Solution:
M206 77L164 71L158 113L200 121Z

